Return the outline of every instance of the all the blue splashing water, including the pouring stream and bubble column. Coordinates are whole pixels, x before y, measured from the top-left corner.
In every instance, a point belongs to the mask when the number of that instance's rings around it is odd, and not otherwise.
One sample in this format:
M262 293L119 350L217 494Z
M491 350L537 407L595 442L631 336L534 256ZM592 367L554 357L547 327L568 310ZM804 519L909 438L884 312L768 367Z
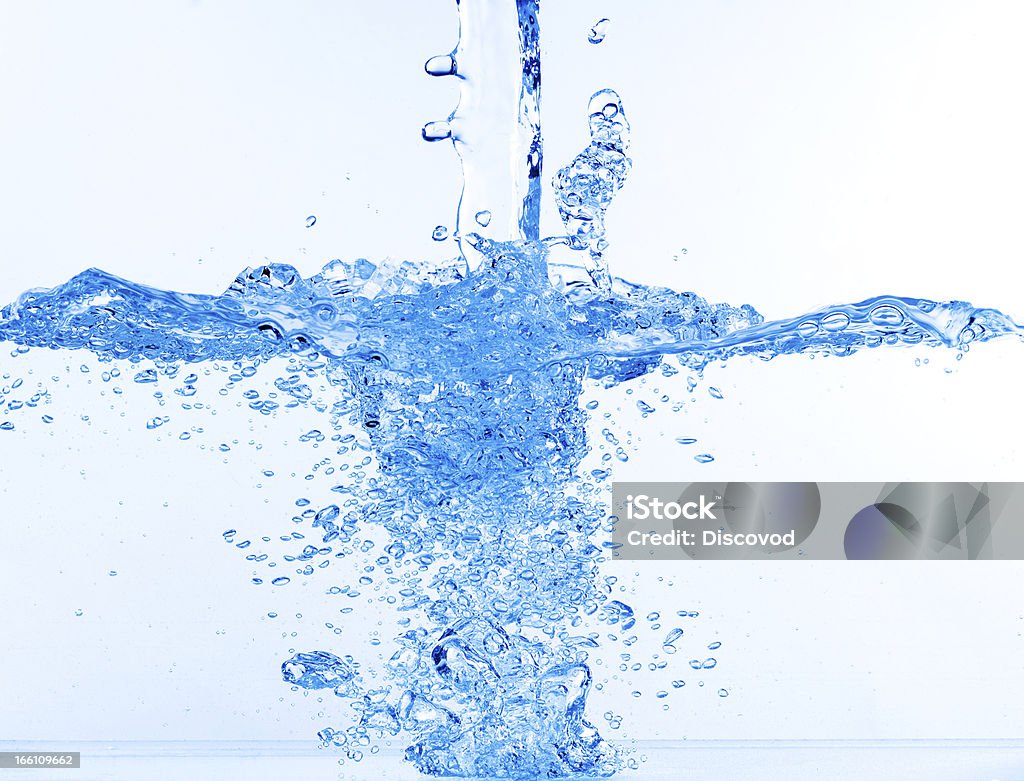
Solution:
M104 374L189 403L317 413L322 423L301 438L330 443L337 466L297 500L294 518L282 519L292 549L260 562L257 585L295 589L291 575L301 573L338 594L373 589L401 626L382 669L345 648L279 660L283 686L338 697L337 723L319 732L325 745L358 761L400 734L406 758L432 775L609 775L624 757L601 732L622 719L608 711L599 729L588 710L600 684L593 654L620 646L623 668L637 668L648 661L632 655L640 625L657 633L666 656L684 628L613 599L613 580L602 576L611 523L604 487L629 453L606 430L602 469L582 469L586 389L653 372L683 387L710 361L733 356L922 345L963 353L1024 332L992 309L895 296L765 321L750 306L614 278L604 215L631 163L626 106L610 89L590 101L590 143L554 177L565 234L542 240L538 5L463 0L460 13L456 51L426 66L464 85L449 120L424 129L425 138L451 137L464 166L453 236L462 256L449 267L339 260L303 277L270 264L245 269L219 296L89 269L5 307L0 339L14 355L88 350L109 365ZM514 56L484 46L481 31ZM490 134L495 127L502 132ZM494 160L506 169L514 161L511 177L495 173ZM434 237L444 241L446 228ZM555 245L583 260L550 262ZM223 371L215 392L201 365ZM245 388L265 373L272 396ZM316 383L328 395L314 393ZM16 382L0 389L0 429L24 425L41 401ZM223 533L243 550L250 544ZM662 661L657 699L685 686L686 668L718 663L707 655Z

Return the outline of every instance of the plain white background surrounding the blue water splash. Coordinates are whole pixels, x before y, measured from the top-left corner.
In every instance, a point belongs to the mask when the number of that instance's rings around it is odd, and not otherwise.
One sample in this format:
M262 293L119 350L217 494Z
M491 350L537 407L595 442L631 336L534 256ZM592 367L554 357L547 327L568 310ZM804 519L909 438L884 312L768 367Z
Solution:
M611 86L635 162L609 216L615 273L767 316L895 293L1024 319L1022 13L1014 2L549 2L548 171L585 145L587 98ZM608 36L592 46L600 16ZM430 230L454 224L457 160L419 129L456 100L422 72L456 35L444 0L0 3L0 298L91 265L212 293L264 259L311 273L333 257L451 255ZM545 217L556 232L550 203ZM959 363L899 350L734 362L708 372L723 400L701 385L684 413L642 425L624 389L595 396L599 411L625 401L618 427L638 440L623 479L1015 480L1021 358L1001 343ZM0 441L0 737L318 729L316 703L276 666L293 646L372 655L368 627L323 628L325 616L339 623L323 580L268 599L220 539L230 527L287 532L318 458L295 441L311 421L250 424L225 408L179 442L198 417L175 410L146 431L155 402L135 387L115 397L89 356L4 357L2 370L50 386L55 420L26 415ZM681 435L716 461L696 465ZM236 438L225 464L212 448ZM265 468L282 479L257 489ZM616 573L633 581L630 567ZM637 737L1019 738L1022 574L1017 563L645 567L627 601L641 614L700 610L680 656L720 640L719 667L702 689L681 675L669 718L651 698L664 684L643 677L595 694L592 718L631 712L623 732Z

